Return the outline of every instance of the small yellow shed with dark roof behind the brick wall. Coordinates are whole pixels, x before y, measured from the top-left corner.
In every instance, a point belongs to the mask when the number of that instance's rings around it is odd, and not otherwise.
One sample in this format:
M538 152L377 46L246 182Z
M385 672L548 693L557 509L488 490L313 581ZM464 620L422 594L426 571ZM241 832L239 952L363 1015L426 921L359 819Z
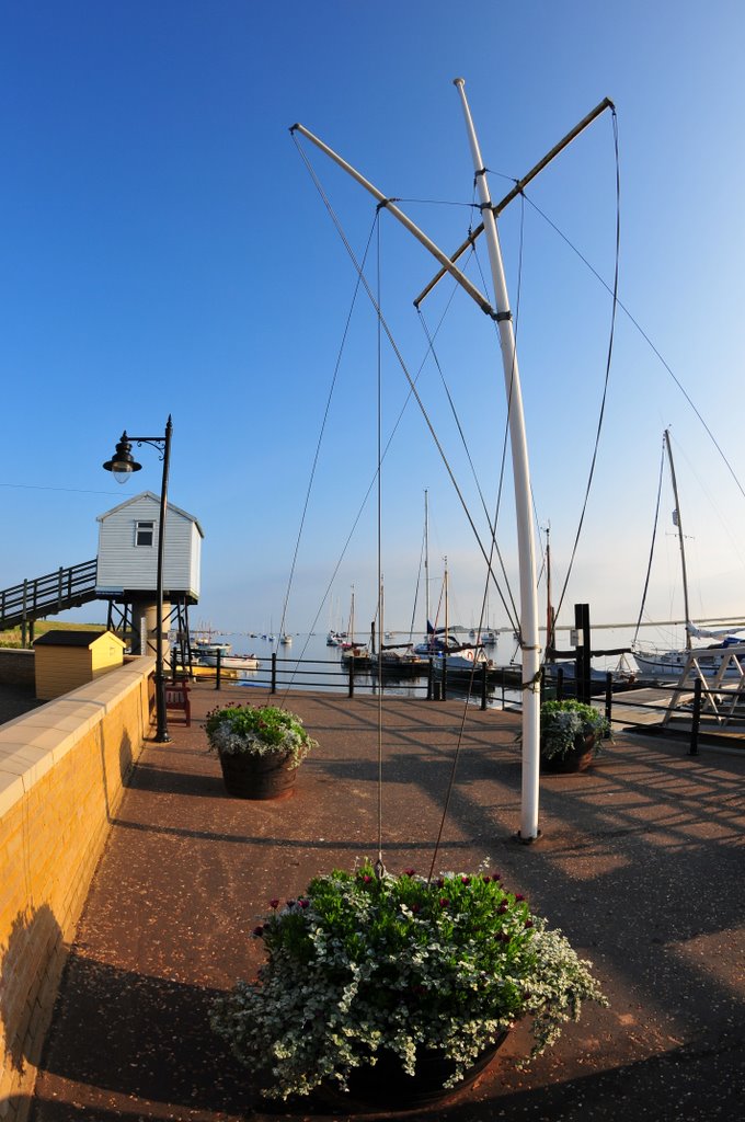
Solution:
M125 661L125 643L109 631L49 631L36 640L34 652L42 701L70 693Z

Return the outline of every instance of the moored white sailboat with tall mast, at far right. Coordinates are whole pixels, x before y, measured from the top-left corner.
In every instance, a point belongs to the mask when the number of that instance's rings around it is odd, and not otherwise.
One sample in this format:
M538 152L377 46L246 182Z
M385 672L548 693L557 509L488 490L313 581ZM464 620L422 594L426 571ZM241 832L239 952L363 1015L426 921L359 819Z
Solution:
M668 454L668 463L670 465L670 478L672 482L673 496L675 499L675 506L672 512L673 525L678 531L678 543L680 548L680 564L682 572L683 582L683 610L686 614L686 644L682 649L678 650L659 650L654 647L637 647L633 644L632 650L634 654L634 660L640 669L641 674L644 678L653 678L656 680L679 680L681 674L687 670L692 670L706 679L720 677L721 680L726 679L741 679L743 677L743 669L741 668L739 660L733 657L733 647L743 647L743 655L745 657L745 643L742 638L738 638L734 631L742 631L745 628L727 628L725 631L708 631L707 628L697 627L697 625L691 620L689 600L688 600L688 570L686 567L686 539L683 536L683 524L680 515L680 500L678 497L678 480L675 478L675 465L672 458L672 448L670 444L670 432L668 429L664 431L664 444ZM710 646L695 647L693 638L716 638L719 642L711 644Z

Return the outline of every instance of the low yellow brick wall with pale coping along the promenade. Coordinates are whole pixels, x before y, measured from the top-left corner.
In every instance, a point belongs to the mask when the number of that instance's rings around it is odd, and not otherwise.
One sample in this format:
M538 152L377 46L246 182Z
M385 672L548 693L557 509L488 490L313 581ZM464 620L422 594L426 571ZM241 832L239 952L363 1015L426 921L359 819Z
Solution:
M149 725L151 659L0 725L0 1118L22 1122L93 872Z

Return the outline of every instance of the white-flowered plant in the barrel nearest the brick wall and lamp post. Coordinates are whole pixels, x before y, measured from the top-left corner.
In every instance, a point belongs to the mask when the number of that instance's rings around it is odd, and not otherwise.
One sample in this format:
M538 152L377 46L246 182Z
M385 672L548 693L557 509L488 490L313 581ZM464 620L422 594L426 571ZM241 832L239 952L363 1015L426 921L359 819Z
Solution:
M213 709L204 728L210 747L220 755L286 753L293 767L318 746L300 717L273 705Z

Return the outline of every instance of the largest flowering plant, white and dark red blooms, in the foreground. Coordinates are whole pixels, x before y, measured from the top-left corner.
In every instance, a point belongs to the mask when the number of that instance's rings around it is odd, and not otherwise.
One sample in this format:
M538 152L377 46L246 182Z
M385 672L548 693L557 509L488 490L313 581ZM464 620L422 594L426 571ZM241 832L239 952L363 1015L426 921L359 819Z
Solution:
M270 907L254 932L268 962L211 1015L270 1097L324 1082L347 1091L353 1069L384 1052L408 1075L417 1052L435 1052L452 1061L443 1086L454 1086L523 1014L533 1017L537 1055L583 1000L606 1004L591 964L498 873L427 881L414 870L377 876L365 864Z

